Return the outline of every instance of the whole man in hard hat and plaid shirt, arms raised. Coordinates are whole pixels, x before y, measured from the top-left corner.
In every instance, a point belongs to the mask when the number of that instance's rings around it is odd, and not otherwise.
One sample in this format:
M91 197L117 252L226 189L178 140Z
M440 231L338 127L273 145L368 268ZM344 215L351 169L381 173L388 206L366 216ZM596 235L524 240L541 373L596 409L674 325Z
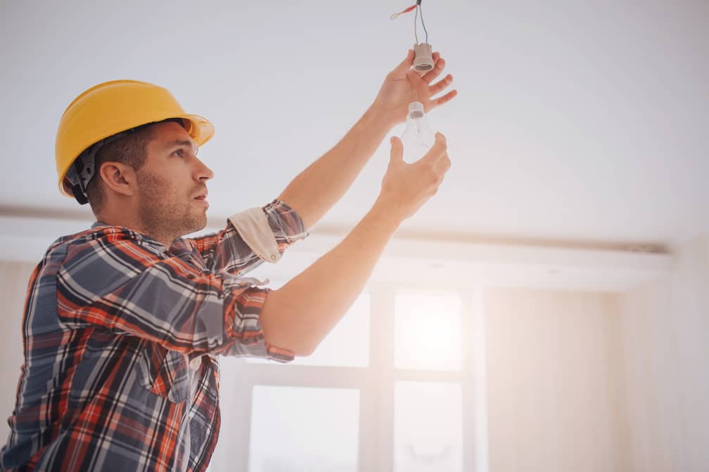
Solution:
M57 132L60 191L96 223L52 244L30 278L25 364L4 469L203 471L219 432L218 355L286 362L309 355L346 313L401 221L450 167L445 137L420 161L391 139L381 192L332 251L281 289L244 277L307 236L340 200L408 104L451 100L445 67L423 76L413 52L386 76L362 119L277 200L206 225L211 170L197 151L210 122L164 88L100 84L69 105ZM333 277L337 274L337 277Z

